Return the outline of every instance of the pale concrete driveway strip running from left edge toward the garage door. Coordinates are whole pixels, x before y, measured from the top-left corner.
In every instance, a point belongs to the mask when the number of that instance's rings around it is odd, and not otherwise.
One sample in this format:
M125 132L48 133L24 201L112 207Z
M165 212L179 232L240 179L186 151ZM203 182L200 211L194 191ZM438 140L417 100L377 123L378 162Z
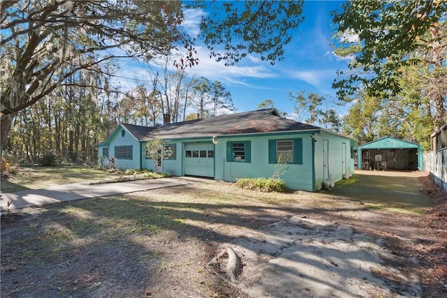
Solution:
M17 193L2 193L0 210L2 213L5 212L8 202L11 202L9 209L21 209L57 202L117 195L119 193L133 193L134 191L147 191L149 189L184 184L190 184L190 182L179 178L163 178L93 185L90 182L54 185L47 188L18 191Z

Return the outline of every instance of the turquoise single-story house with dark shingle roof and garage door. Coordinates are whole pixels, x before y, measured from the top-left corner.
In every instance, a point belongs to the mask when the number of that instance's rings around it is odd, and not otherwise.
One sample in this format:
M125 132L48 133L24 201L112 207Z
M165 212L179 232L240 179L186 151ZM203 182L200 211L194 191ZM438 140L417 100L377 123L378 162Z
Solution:
M323 128L279 116L274 108L227 114L156 127L119 124L98 155L117 158L119 168L154 170L146 155L148 140L160 137L168 158L159 159L159 172L175 176L236 181L272 177L278 158L287 162L281 177L289 188L318 191L323 181L353 174L357 141Z

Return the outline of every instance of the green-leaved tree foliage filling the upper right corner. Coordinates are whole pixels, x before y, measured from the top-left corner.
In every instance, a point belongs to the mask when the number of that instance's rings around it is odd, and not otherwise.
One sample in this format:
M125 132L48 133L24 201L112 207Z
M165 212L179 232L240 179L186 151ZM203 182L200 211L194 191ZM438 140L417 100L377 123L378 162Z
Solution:
M349 72L333 84L340 99L366 91L397 96L406 69L427 69L423 92L430 97L432 128L446 121L447 2L348 1L335 11L335 53L351 57Z

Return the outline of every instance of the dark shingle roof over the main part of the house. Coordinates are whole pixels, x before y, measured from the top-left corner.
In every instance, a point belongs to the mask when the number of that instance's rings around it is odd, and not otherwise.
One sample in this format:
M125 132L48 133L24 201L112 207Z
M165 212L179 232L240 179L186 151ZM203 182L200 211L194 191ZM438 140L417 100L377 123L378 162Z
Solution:
M142 140L154 137L177 139L239 135L244 133L274 133L281 131L307 131L320 129L278 116L274 109L263 109L217 117L166 124L149 131Z

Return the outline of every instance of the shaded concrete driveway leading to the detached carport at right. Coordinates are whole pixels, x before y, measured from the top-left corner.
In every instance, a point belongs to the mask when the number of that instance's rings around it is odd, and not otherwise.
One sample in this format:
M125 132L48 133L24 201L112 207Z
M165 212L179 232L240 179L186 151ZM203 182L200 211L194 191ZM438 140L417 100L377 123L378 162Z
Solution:
M418 176L418 172L356 171L350 179L320 193L404 207L432 207L432 200L420 191L423 185Z

